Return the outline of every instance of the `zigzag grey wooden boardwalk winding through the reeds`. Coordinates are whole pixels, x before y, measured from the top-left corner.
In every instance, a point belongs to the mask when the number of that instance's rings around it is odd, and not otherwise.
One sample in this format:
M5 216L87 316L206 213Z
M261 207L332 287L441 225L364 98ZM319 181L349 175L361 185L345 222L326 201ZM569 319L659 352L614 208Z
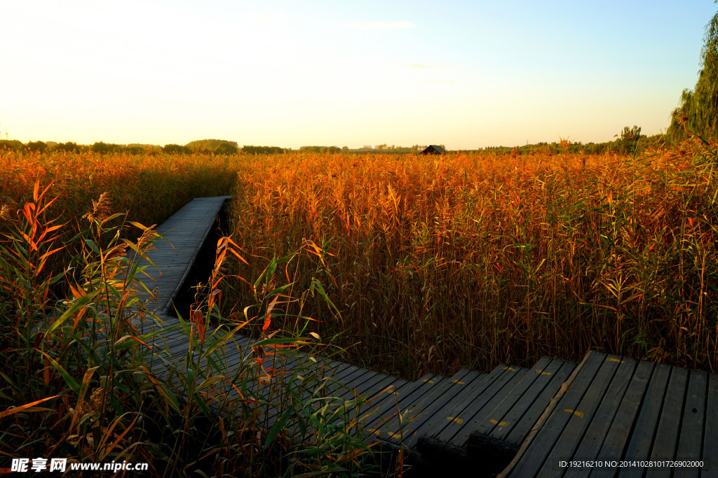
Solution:
M162 271L153 275L159 291L155 310L168 330L152 344L162 349L162 360L153 365L158 376L188 360L180 320L169 312L225 199L195 199L158 228L167 241L158 241L149 257ZM225 375L246 368L253 343L236 335L215 351ZM204 366L213 357L198 360ZM428 374L418 381L299 353L268 357L264 367L284 374L273 387L256 379L245 383L257 398L291 387L307 401L322 394L365 397L358 416L367 441L382 449L403 447L409 462L420 459L437 469L510 477L718 477L718 376L701 371L596 351L578 365L544 357L532 368L501 364L490 373L465 368L452 377ZM310 371L314 385L307 386L297 371ZM278 413L266 408L268 426ZM307 423L286 427L297 442L312 437Z

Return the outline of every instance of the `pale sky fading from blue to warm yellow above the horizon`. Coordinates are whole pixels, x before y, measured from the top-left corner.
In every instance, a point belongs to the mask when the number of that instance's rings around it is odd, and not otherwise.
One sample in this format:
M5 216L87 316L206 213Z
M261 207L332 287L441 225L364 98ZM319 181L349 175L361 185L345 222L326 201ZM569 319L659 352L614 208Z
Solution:
M687 6L686 6L687 5ZM712 0L0 0L2 138L474 149L665 131Z

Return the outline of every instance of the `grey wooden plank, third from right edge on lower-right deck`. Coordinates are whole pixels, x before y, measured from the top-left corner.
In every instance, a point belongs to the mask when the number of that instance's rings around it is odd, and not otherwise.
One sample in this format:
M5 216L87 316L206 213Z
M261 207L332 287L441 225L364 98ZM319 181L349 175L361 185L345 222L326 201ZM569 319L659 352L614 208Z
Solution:
M668 380L666 398L663 401L661 418L658 421L658 429L656 429L656 439L653 441L651 460L672 460L676 458L687 384L688 371L685 368L671 368L671 378ZM646 477L664 476L671 476L670 468L652 468L646 471Z

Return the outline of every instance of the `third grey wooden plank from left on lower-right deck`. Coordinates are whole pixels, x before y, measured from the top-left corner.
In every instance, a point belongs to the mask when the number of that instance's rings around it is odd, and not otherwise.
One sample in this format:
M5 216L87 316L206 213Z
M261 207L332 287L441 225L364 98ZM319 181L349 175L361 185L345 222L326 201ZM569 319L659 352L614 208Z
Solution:
M572 459L577 461L596 460L620 404L623 403L623 398L625 397L626 391L628 391L629 384L633 379L638 365L640 364L635 360L624 359L623 363L618 366L615 376L613 376L605 396L602 397L596 413L587 422L588 429L586 434L577 446ZM623 426L625 426L625 423ZM559 445L557 444L556 446ZM613 459L617 459L617 457L613 457ZM567 469L564 476L583 477L588 476L591 471L591 469L574 467Z

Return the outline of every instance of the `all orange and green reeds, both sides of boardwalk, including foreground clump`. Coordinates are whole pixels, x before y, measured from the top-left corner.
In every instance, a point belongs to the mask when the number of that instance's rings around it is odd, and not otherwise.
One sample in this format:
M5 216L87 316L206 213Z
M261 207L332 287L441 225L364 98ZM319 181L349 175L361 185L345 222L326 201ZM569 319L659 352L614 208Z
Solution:
M151 281L125 253L161 240L150 226L192 197L224 194L232 242L221 248L236 254L208 264L221 296L205 291L185 317L200 350L271 322L275 340L299 348L318 336L326 353L406 378L578 361L589 348L718 371L716 145L635 156L2 152L3 457L140 459L167 476L362 469L367 450L342 427L297 454L252 401L223 401L241 419L210 417L207 403L232 386L221 363L188 360L173 382L146 369L153 355L127 317L151 318L135 296ZM220 332L198 333L210 324ZM316 408L288 410L325 423Z

